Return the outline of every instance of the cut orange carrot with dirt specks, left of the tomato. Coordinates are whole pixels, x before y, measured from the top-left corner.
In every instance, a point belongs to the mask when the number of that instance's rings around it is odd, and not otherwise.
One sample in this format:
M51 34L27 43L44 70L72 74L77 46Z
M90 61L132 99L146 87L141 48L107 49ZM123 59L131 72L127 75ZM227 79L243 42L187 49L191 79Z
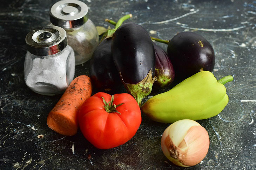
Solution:
M92 83L86 75L76 77L48 114L47 125L55 132L72 136L78 131L78 112L92 94Z

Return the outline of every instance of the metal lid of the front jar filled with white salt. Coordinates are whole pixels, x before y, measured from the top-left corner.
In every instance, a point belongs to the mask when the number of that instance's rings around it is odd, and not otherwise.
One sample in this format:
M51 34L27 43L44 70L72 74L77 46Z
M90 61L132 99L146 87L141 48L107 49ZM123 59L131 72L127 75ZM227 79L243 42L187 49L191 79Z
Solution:
M36 56L56 54L68 45L66 31L57 26L33 29L26 36L27 50Z

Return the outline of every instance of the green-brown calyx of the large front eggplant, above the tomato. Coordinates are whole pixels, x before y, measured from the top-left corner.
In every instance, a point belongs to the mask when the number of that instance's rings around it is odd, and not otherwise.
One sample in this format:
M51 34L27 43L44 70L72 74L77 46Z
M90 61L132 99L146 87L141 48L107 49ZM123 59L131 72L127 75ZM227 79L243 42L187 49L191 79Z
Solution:
M135 98L136 102L140 106L142 99L151 93L153 83L156 81L156 76L154 78L152 76L152 69L150 69L148 75L143 80L136 84L125 83L123 81L122 73L119 72L119 74L124 87L128 93Z

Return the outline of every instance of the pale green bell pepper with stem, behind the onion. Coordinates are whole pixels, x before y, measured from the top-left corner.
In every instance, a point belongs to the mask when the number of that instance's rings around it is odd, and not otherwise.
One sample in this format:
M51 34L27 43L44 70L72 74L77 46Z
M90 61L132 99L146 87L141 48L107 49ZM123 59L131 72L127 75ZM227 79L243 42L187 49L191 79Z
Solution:
M223 84L232 80L230 75L217 81L211 72L198 72L171 90L148 99L141 111L150 119L163 123L216 116L228 104Z

